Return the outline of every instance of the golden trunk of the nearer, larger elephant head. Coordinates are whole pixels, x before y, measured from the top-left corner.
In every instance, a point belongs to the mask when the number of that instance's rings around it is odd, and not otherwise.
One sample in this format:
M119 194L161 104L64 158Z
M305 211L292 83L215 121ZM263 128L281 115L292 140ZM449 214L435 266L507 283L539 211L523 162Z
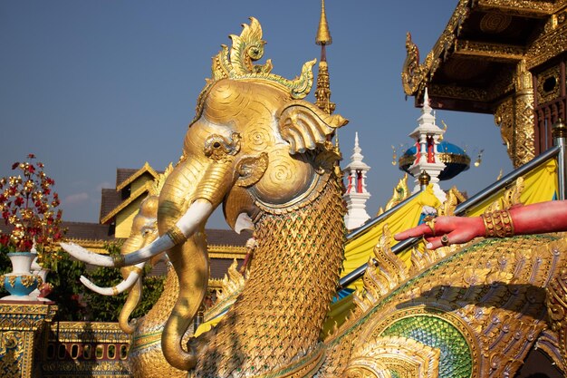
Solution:
M183 169L174 171L162 189L158 214L159 233L169 232L185 217L187 203L204 201L216 208L234 184L232 159L208 160L205 169L198 163L187 163ZM185 188L184 196L179 189ZM179 199L186 199L185 204ZM164 206L162 206L162 203ZM178 220L179 219L179 220ZM182 345L184 334L192 324L193 317L207 292L209 266L204 219L196 231L187 235L187 240L176 244L168 251L168 257L179 280L179 295L171 311L161 337L164 356L172 366L190 370L197 364L197 351Z

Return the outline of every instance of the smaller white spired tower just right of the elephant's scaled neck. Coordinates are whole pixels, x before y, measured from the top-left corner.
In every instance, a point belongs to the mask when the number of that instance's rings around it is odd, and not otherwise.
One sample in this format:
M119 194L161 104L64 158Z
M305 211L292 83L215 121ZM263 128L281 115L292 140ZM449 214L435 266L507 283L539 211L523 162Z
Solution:
M351 162L344 169L347 178L347 190L343 195L347 203L344 223L349 230L359 228L370 219L370 215L366 212L366 201L370 199L370 193L366 190L366 172L370 170L370 167L362 161L364 157L361 151L357 132Z

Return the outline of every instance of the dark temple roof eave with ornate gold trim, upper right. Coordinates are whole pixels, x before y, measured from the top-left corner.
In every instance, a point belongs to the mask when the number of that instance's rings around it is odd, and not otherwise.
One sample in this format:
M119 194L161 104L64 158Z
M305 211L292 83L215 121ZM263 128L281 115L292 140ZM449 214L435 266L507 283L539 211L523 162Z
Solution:
M514 90L519 62L530 70L566 50L567 23L556 16L566 6L564 0L459 1L423 63L408 34L404 91L417 106L427 86L434 108L492 112Z

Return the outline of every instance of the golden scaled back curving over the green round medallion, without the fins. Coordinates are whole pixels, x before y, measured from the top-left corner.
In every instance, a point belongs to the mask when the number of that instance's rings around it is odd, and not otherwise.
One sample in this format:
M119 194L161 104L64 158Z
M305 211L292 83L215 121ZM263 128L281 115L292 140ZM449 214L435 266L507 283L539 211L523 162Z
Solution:
M434 261L409 280L404 279L403 272L392 276L391 269L386 269L386 273L380 272L379 267L369 269L368 292L359 299L363 305L327 341L331 349L322 366L321 373L325 374L320 376L340 376L348 361L344 354L351 355L352 350L355 356L369 344L377 344L380 333L399 319L433 312L466 337L473 358L473 377L514 376L537 337L549 327L543 321L547 311L545 287L565 266L567 257L560 252L567 247L563 237L481 240L456 253L453 247L444 261ZM375 253L380 265L397 258L388 247L377 247ZM439 257L442 255L443 252ZM567 275L564 268L561 271L550 288L555 293L550 311L553 329L557 330L564 330L566 323ZM393 291L383 287L387 276L394 278L389 283ZM368 281L372 280L370 285ZM559 340L564 354L564 333L560 333ZM415 358L411 354L416 353L417 350L410 352L408 357ZM376 369L384 363L380 357L375 361Z

